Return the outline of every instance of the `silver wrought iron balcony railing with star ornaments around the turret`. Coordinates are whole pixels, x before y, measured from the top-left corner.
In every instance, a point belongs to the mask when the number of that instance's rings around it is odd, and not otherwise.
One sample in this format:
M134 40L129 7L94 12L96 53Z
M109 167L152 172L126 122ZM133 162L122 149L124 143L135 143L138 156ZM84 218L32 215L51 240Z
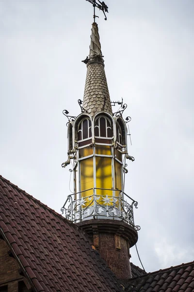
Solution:
M104 195L106 190L109 194L111 191L114 196ZM85 196L88 193L91 195ZM133 219L133 206L137 208L137 204L137 201L120 190L91 188L67 196L61 211L66 219L75 223L89 219L115 219L122 220L139 230Z

